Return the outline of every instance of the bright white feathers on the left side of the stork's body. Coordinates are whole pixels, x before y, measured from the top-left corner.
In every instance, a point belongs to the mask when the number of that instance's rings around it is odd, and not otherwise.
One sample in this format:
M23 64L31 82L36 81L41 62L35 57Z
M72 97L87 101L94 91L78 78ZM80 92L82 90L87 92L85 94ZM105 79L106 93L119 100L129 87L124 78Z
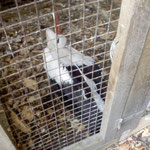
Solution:
M44 49L44 68L51 79L61 84L73 84L73 80L65 67L59 64L58 59L53 58L48 48Z

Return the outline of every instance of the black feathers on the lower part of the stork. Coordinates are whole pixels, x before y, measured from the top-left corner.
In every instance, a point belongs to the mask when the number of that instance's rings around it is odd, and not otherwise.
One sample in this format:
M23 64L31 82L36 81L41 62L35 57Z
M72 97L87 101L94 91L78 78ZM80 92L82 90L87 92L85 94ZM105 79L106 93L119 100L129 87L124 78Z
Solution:
M81 66L79 66L81 68ZM99 132L102 112L100 112L97 108L96 102L91 97L91 89L88 87L88 84L84 81L80 71L76 66L68 66L66 69L69 71L71 77L73 78L73 85L70 84L62 84L62 89L57 84L55 80L50 80L51 82L51 90L56 95L62 97L64 100L65 108L70 110L70 112L74 113L74 117L80 120L84 125L86 125L89 130L89 134L94 134L95 131ZM81 68L82 69L82 68ZM99 83L101 78L101 72L99 72L99 68L96 66L94 70L97 73L93 74L93 78L98 77L97 79L93 79L95 83ZM83 69L83 73L89 78L92 79L92 66L85 66ZM100 86L97 85L99 89ZM83 96L83 89L87 99ZM55 96L55 94L53 96ZM43 103L48 101L50 97L43 99ZM51 103L50 100L48 103ZM49 104L43 104L44 108L48 108Z

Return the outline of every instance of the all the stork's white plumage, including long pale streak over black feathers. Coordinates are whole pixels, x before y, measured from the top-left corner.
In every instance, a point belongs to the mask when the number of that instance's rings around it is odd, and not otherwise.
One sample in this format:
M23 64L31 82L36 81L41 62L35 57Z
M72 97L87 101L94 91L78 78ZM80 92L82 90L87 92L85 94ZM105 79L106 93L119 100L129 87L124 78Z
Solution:
M71 79L69 72L67 71L65 67L63 68L63 66L75 65L79 69L80 73L82 74L88 86L90 87L93 93L93 98L97 104L97 107L103 112L104 102L102 98L100 97L100 95L96 92L97 87L94 81L87 78L78 67L78 66L81 66L82 64L85 64L87 66L93 65L94 59L92 59L89 56L83 55L82 53L80 53L79 51L77 51L76 49L72 47L66 46L66 38L63 35L59 35L58 37L56 37L56 34L53 31L48 29L46 30L46 37L47 37L47 43L48 43L47 46L49 49L47 48L45 51L48 50L49 54L47 54L45 58L46 65L47 65L45 66L45 69L46 67L49 69L48 70L49 76L52 79L55 79L57 83L59 84L61 84L61 81L63 83L73 84L73 80ZM59 38L58 45L56 45L57 38ZM58 59L61 63L60 74L59 74ZM48 62L48 61L51 61L51 62ZM53 69L53 71L51 71L51 69ZM62 80L60 80L60 77L56 77L56 75L60 75ZM66 82L66 80L68 82ZM83 96L86 97L84 92L83 92Z

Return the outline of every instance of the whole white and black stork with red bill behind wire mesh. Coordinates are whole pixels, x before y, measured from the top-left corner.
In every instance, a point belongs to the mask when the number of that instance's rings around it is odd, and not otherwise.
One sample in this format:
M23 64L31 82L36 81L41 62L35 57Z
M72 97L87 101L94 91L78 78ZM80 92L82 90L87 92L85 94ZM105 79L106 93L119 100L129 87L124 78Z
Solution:
M55 84L52 90L60 96L63 94L65 106L76 109L77 119L83 122L89 119L92 124L96 121L97 113L102 114L104 111L104 101L100 96L101 70L92 57L66 44L67 39L58 26L57 13L55 21L56 33L46 29L44 68Z

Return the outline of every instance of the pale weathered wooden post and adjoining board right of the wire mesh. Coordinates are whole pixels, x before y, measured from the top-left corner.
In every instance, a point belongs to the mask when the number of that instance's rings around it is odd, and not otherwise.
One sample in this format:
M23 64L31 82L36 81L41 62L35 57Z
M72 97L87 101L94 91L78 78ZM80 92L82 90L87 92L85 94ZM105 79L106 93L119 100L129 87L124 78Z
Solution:
M105 142L125 138L147 105L150 89L149 0L123 0L110 72L101 136Z

